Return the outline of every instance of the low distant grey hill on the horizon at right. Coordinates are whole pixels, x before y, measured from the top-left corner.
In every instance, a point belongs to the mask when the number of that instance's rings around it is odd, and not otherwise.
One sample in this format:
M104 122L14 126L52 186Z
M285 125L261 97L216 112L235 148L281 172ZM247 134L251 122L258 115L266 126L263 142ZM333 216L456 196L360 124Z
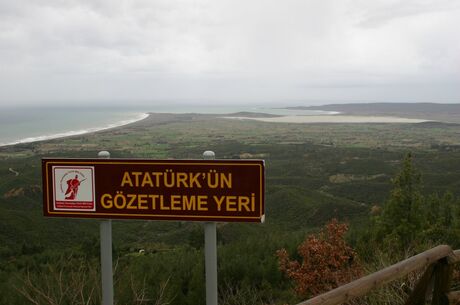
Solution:
M352 103L288 107L297 110L339 111L347 115L384 115L460 123L460 104Z

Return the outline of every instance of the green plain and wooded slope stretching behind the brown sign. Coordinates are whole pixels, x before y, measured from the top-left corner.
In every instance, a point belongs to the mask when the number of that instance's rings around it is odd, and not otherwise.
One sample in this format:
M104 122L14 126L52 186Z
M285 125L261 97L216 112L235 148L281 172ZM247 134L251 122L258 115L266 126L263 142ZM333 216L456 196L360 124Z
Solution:
M39 280L58 261L97 268L97 220L42 216L42 157L94 158L108 150L122 158L200 159L213 150L218 158L264 159L266 222L218 224L219 285L284 304L296 297L278 271L276 250L294 252L305 234L334 217L358 231L388 198L408 151L422 173L422 192L458 196L459 133L455 124L272 124L153 114L114 130L0 148L0 304L29 304L17 290L27 271ZM171 304L202 300L200 223L114 221L113 237L120 304L130 304L131 284L145 285L154 298L162 282Z

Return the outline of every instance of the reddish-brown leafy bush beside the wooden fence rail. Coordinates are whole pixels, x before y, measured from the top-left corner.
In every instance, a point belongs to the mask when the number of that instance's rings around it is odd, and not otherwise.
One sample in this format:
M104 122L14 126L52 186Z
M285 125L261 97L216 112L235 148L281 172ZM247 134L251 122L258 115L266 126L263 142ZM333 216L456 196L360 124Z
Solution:
M331 290L362 274L355 251L345 241L347 231L346 224L333 219L300 244L300 262L291 260L286 249L277 251L279 269L294 280L299 296Z

